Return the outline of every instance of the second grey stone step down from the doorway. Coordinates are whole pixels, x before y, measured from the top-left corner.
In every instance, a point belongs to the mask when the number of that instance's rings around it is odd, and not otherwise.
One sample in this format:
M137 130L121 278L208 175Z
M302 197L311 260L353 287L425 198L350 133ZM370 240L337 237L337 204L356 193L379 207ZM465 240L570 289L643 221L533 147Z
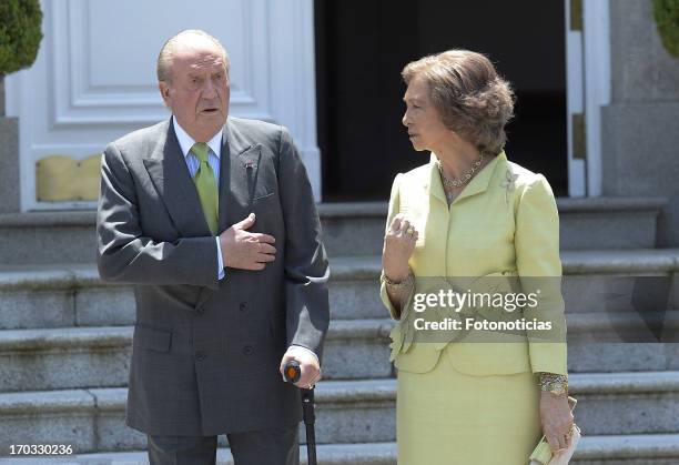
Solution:
M567 312L679 307L679 250L565 251ZM331 262L334 320L387 316L378 293L379 256ZM87 264L0 267L0 330L134 324L129 285L103 283Z

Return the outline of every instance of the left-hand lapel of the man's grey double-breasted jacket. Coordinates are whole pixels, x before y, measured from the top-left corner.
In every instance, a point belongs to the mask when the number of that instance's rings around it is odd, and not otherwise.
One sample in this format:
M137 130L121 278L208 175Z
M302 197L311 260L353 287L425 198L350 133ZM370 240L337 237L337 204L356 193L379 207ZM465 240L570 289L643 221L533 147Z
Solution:
M182 235L209 235L210 228L170 121L154 152L143 160L144 166Z

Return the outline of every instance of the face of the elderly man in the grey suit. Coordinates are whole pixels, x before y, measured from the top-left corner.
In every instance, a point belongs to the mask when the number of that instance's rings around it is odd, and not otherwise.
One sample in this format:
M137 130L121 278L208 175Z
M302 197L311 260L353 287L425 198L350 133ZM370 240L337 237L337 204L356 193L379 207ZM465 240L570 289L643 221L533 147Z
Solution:
M230 82L225 58L212 41L188 39L173 53L172 81L160 82L165 104L196 142L207 142L226 123Z

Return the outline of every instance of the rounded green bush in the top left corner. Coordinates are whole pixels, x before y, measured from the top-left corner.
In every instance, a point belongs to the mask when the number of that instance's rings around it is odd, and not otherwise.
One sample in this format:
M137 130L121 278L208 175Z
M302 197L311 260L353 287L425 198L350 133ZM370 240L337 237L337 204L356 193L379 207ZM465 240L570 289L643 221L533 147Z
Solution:
M0 0L0 75L33 64L41 40L39 0Z

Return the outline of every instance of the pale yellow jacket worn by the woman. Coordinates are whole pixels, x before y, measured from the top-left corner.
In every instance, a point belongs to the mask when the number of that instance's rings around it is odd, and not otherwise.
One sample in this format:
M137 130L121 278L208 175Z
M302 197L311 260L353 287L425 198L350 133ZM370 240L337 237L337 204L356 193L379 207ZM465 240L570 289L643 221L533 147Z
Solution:
M408 262L416 277L518 275L521 281L549 276L560 282L559 218L545 176L507 161L503 152L448 208L435 161L432 154L428 164L396 175L389 198L387 228L403 213L419 233ZM540 305L525 309L523 316L559 322L561 342L523 335L510 343L408 343L404 334L412 330L399 322L392 332L392 360L398 370L414 373L430 371L443 354L469 375L566 374L564 300L558 284L546 292ZM384 283L381 296L398 320Z

